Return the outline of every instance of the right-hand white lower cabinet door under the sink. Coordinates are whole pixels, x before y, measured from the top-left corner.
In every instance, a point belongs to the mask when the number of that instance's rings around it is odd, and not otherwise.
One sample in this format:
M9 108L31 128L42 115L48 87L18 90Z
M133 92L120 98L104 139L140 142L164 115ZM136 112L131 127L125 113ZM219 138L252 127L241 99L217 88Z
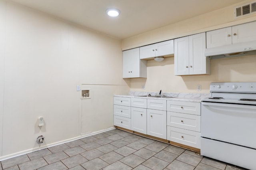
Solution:
M147 109L147 134L166 139L166 111Z

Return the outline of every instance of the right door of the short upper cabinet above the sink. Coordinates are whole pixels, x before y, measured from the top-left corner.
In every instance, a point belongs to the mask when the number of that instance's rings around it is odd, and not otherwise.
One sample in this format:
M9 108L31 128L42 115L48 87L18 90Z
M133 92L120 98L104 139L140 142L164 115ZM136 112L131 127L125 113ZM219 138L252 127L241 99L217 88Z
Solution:
M168 40L165 42L156 43L156 57L174 54L174 41Z

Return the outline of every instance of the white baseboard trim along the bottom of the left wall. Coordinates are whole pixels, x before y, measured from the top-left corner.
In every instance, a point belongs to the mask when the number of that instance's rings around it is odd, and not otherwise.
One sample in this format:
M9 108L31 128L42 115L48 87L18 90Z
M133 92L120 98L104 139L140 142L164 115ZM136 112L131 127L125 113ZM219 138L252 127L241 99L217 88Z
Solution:
M21 156L21 155L24 155L24 154L28 154L28 153L31 153L31 152L35 152L35 151L38 151L38 150L42 150L42 149L45 149L45 148L50 148L52 146L56 146L56 145L59 145L59 144L72 142L74 140L82 139L82 138L92 136L92 135L95 135L95 134L99 134L99 133L102 133L102 132L107 132L107 131L113 130L113 129L115 129L115 128L111 127L111 128L107 128L107 129L104 129L104 130L99 130L97 132L92 132L92 133L89 133L89 134L81 134L80 136L77 136L77 137L74 137L74 138L69 138L69 139L66 139L66 140L61 140L59 142L54 142L54 143L51 143L51 144L47 144L47 145L44 145L42 147L36 147L36 148L28 149L28 150L22 150L20 152L16 152L16 153L13 153L13 154L8 154L8 155L5 155L5 156L1 156L0 161L10 159L10 158L14 158L16 156Z

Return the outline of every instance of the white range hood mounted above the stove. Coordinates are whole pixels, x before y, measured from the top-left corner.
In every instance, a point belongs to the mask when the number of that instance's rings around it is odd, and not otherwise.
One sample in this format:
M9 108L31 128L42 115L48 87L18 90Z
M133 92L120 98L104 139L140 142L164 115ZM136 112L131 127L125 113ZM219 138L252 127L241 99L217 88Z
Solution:
M206 48L204 55L210 59L256 55L256 41Z

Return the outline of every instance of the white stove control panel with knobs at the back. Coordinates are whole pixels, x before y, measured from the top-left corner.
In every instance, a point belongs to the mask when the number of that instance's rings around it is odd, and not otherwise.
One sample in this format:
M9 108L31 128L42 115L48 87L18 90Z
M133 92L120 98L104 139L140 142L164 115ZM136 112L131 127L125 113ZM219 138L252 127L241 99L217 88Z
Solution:
M210 92L256 93L256 82L211 83Z

